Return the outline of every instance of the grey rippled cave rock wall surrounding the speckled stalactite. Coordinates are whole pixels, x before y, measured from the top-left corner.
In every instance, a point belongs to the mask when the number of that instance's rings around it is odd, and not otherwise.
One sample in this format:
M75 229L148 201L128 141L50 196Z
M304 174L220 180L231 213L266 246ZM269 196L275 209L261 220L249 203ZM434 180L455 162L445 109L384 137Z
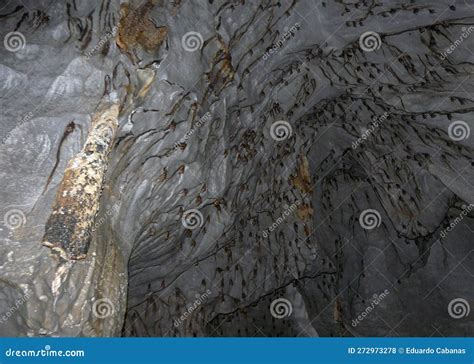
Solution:
M469 2L2 4L0 334L473 334ZM106 76L93 239L58 260Z

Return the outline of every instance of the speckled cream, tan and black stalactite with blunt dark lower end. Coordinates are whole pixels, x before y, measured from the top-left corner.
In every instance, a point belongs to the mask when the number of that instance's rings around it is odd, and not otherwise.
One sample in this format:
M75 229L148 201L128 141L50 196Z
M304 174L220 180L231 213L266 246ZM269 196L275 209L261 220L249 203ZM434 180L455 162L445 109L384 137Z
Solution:
M89 249L118 112L114 103L99 106L84 147L69 161L58 187L43 245L63 259L84 259Z

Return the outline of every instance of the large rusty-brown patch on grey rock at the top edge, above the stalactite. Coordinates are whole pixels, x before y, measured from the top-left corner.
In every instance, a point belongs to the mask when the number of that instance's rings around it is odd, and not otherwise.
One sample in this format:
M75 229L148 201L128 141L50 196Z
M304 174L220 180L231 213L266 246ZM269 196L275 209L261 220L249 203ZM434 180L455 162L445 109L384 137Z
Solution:
M133 61L137 60L135 51L138 48L148 53L157 52L168 35L168 28L156 26L149 17L150 11L157 3L156 0L148 0L136 9L132 9L129 4L121 5L121 18L115 41Z

